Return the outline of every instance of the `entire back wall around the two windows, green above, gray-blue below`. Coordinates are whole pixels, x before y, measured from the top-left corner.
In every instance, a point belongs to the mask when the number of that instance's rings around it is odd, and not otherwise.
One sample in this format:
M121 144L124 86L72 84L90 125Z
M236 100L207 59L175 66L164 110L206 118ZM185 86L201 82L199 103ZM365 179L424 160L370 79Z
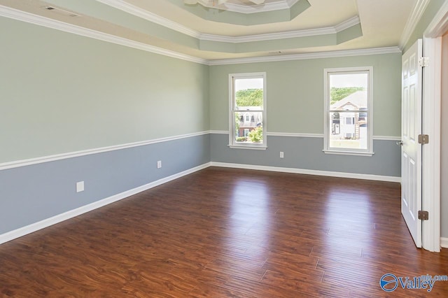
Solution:
M352 66L373 66L371 157L322 151L323 71ZM229 148L224 133L229 130L229 74L251 72L266 72L267 150ZM395 142L401 134L400 73L400 53L211 66L210 126L221 132L211 136L212 162L399 177L400 148Z

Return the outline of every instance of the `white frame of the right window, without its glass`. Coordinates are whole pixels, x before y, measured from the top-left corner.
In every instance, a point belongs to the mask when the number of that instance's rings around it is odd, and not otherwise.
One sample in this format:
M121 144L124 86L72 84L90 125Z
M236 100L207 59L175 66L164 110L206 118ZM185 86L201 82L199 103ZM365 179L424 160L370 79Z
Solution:
M329 76L334 73L367 73L367 111L363 110L363 113L367 114L367 149L356 149L356 148L335 148L330 147L330 124L329 114L330 114L330 80ZM342 155L374 155L373 152L373 66L361 66L361 67L343 67L337 69L324 69L323 70L323 80L324 80L324 117L323 117L323 152L328 154L342 154ZM342 117L342 115L339 115Z

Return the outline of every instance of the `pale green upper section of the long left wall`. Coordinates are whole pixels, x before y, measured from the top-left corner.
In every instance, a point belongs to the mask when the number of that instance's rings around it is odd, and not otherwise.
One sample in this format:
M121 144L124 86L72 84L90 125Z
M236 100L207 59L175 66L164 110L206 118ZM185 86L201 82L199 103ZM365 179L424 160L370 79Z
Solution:
M0 17L0 163L209 129L209 68Z

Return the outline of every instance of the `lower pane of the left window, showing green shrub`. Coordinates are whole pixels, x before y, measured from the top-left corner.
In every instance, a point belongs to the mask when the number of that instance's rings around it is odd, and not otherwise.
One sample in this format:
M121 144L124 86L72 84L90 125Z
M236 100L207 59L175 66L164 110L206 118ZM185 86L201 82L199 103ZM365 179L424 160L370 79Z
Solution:
M235 142L262 143L262 112L235 112Z

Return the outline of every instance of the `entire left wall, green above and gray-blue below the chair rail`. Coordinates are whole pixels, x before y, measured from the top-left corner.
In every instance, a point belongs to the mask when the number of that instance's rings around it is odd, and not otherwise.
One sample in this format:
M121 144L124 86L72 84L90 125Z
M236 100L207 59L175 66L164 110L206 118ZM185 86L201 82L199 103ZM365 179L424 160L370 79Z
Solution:
M0 41L0 243L210 162L208 66L6 17Z

